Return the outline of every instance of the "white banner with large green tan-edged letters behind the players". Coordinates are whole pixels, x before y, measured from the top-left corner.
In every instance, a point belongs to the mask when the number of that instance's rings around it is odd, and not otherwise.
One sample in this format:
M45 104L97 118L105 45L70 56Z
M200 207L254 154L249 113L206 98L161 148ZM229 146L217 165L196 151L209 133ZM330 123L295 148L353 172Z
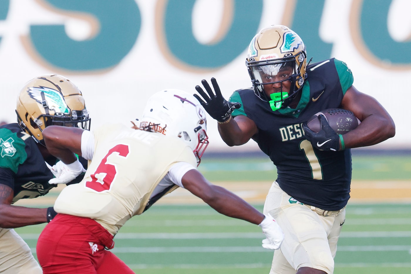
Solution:
M411 148L409 0L0 0L0 120L15 122L16 97L42 74L83 92L92 128L131 125L151 94L190 93L215 77L228 99L250 87L245 58L258 30L288 25L312 62L346 62L358 90L394 118L397 134L374 148ZM230 148L209 117L208 151Z

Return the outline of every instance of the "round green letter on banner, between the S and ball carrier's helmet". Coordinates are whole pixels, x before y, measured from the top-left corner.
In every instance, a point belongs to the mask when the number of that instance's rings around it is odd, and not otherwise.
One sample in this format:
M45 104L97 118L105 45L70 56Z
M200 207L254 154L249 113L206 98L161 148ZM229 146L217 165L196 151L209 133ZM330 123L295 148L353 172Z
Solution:
M262 0L233 0L233 20L226 35L216 44L200 44L192 31L195 0L168 0L164 11L164 39L171 54L182 64L215 69L245 51L259 30ZM210 17L209 20L214 20ZM206 23L206 22L205 22ZM245 56L244 56L245 60Z

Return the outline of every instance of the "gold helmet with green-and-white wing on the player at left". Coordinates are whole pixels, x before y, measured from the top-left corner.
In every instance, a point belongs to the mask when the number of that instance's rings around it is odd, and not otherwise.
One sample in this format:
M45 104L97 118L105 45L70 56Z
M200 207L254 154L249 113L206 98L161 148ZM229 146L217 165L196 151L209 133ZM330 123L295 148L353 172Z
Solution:
M16 113L21 129L42 145L42 131L52 124L90 130L81 91L69 79L56 74L28 81L18 94Z

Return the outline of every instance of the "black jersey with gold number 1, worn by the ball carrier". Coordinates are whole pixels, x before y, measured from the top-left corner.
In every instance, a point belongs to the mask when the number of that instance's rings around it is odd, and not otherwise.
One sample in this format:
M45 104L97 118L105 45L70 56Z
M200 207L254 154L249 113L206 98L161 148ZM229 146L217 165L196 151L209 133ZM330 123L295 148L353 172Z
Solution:
M294 199L323 210L339 210L349 199L351 150L314 149L305 139L302 123L315 113L337 108L353 83L351 70L336 59L307 67L307 81L297 108L272 111L254 90L236 90L230 101L241 103L232 115L252 119L259 133L253 136L277 167L279 186Z

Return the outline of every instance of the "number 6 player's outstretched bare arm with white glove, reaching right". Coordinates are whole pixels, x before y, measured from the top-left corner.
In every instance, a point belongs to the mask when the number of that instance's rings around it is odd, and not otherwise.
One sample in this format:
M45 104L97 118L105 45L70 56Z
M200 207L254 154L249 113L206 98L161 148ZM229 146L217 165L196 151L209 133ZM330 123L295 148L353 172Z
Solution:
M278 249L280 247L284 233L272 216L262 214L224 187L211 184L196 169L187 171L183 175L181 183L185 189L201 198L217 212L259 225L266 235L266 239L263 240L264 248Z

